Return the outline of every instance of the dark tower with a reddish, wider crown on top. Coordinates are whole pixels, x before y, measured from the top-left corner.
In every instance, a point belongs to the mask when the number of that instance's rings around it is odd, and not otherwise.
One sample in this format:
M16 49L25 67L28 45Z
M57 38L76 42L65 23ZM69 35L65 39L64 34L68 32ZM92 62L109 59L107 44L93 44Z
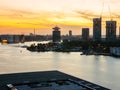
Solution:
M61 32L59 27L53 28L52 40L53 42L60 42L61 41Z

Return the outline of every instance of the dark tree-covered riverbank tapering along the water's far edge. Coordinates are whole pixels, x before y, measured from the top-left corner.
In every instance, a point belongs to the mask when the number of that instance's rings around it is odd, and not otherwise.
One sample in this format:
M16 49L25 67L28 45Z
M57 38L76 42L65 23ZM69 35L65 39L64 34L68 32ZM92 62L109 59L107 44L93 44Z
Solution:
M27 50L31 52L82 52L80 55L103 55L103 56L112 56L112 57L117 57L119 58L119 55L114 55L111 54L110 52L95 52L93 49L89 50L83 50L81 47L74 47L74 48L63 48L60 44L58 43L47 43L47 44L31 44L31 46L26 47Z

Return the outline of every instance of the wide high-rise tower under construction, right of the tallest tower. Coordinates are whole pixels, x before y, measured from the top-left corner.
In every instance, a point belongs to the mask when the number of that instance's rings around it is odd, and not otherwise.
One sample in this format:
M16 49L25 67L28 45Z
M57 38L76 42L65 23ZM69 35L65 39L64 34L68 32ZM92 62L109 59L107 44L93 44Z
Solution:
M106 39L116 39L116 21L106 21Z

